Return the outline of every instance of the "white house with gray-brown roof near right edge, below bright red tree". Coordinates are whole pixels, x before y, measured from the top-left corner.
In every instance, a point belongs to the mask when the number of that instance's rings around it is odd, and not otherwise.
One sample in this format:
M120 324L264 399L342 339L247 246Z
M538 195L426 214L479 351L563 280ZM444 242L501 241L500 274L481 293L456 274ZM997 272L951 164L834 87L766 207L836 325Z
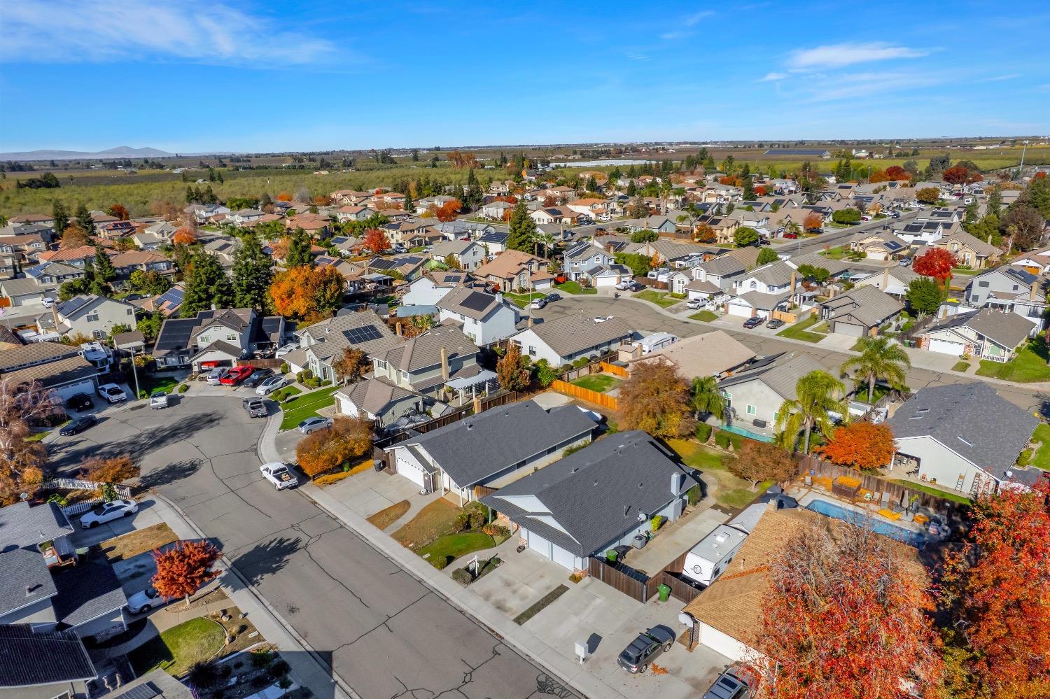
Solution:
M1008 362L1037 326L1015 313L981 309L948 316L919 333L923 350Z

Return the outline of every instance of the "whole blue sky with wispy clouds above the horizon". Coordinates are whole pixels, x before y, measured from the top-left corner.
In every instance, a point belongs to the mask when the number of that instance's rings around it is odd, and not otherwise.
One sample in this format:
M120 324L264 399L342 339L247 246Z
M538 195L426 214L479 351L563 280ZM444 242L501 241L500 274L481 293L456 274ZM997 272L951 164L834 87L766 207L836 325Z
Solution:
M1045 2L18 0L0 151L1050 133Z

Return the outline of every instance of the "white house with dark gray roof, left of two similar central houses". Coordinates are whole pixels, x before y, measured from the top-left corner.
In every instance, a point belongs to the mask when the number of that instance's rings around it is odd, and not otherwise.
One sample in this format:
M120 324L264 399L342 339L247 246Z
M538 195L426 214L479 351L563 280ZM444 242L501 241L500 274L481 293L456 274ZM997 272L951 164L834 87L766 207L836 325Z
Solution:
M591 441L594 421L574 405L545 410L511 403L464 418L384 449L391 469L427 492L477 500L475 486L498 488Z

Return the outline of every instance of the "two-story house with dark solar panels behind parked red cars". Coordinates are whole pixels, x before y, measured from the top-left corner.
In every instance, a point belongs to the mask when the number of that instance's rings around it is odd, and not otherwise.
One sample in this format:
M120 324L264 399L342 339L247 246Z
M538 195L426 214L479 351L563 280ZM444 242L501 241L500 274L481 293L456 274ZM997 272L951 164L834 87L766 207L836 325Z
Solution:
M238 359L280 346L285 318L252 309L201 311L195 318L168 318L153 345L159 366L192 365L194 370L231 366Z

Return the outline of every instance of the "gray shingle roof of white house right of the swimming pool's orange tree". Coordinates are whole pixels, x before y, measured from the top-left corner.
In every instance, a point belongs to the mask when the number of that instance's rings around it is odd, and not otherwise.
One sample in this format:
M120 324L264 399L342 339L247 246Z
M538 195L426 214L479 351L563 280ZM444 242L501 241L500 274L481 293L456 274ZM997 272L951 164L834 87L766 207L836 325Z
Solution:
M1002 481L1006 471L1021 470L1014 464L1038 422L976 381L923 388L886 424L899 440L932 437Z

